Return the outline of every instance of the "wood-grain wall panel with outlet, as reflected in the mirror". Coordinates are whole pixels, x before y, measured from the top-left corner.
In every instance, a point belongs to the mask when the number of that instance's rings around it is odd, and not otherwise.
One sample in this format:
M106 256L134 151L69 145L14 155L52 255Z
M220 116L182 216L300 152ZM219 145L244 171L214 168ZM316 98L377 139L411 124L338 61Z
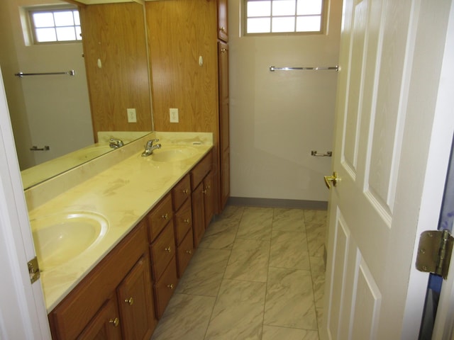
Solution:
M80 8L95 138L97 131L152 130L143 11L135 2ZM135 108L137 123L128 123L127 108Z

